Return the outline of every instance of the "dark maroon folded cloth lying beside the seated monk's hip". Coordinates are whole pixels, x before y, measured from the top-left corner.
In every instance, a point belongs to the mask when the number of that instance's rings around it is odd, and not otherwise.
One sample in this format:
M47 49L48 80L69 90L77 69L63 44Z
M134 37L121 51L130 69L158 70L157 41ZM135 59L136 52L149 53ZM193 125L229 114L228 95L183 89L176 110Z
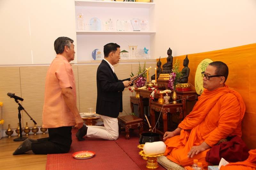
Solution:
M205 160L213 165L219 165L221 158L228 162L239 162L248 158L248 152L249 149L244 141L238 136L232 136L230 141L213 146L206 153Z

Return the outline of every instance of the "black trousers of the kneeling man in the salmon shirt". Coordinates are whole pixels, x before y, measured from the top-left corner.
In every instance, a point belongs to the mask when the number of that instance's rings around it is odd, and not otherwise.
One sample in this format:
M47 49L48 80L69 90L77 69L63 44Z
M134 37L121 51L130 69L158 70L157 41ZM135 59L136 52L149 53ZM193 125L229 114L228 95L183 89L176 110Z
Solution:
M67 153L72 143L71 129L71 126L48 128L49 137L32 143L32 151L35 154Z

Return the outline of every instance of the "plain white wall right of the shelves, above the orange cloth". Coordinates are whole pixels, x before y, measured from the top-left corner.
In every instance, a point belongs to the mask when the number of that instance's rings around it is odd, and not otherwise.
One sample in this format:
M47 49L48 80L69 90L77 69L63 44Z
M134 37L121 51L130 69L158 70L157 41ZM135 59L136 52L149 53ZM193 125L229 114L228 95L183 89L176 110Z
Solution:
M154 0L152 56L194 54L256 43L255 0Z

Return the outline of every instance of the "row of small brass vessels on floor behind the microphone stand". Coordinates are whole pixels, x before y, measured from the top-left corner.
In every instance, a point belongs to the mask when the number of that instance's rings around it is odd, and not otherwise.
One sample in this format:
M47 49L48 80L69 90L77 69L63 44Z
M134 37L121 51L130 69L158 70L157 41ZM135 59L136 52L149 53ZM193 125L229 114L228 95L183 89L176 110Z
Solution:
M45 132L47 131L47 128L40 128L41 132L43 132L43 134L45 134ZM39 131L39 129L36 127L36 125L34 124L33 128L29 128L28 127L28 122L26 122L26 127L24 129L21 130L21 132L25 132L26 136L28 136L28 133L32 131L34 133L34 135L36 135L36 132ZM15 130L15 132L18 134L18 137L20 137L20 125L18 123L18 127ZM10 128L10 124L8 124L8 129L5 131L5 134L8 135L8 137L11 137L11 135L13 134L13 130Z

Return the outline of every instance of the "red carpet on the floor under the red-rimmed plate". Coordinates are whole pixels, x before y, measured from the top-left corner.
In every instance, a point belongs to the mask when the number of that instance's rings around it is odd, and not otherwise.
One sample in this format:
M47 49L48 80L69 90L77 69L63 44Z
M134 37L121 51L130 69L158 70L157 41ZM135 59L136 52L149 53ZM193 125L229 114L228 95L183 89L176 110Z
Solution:
M131 138L125 139L125 132L119 134L115 141L97 138L85 138L77 141L77 129L72 130L72 145L68 153L48 154L46 170L140 170L146 168L146 160L138 154L140 149L138 130L130 132ZM77 151L94 151L90 159L74 159L72 154ZM161 165L157 169L164 169Z

